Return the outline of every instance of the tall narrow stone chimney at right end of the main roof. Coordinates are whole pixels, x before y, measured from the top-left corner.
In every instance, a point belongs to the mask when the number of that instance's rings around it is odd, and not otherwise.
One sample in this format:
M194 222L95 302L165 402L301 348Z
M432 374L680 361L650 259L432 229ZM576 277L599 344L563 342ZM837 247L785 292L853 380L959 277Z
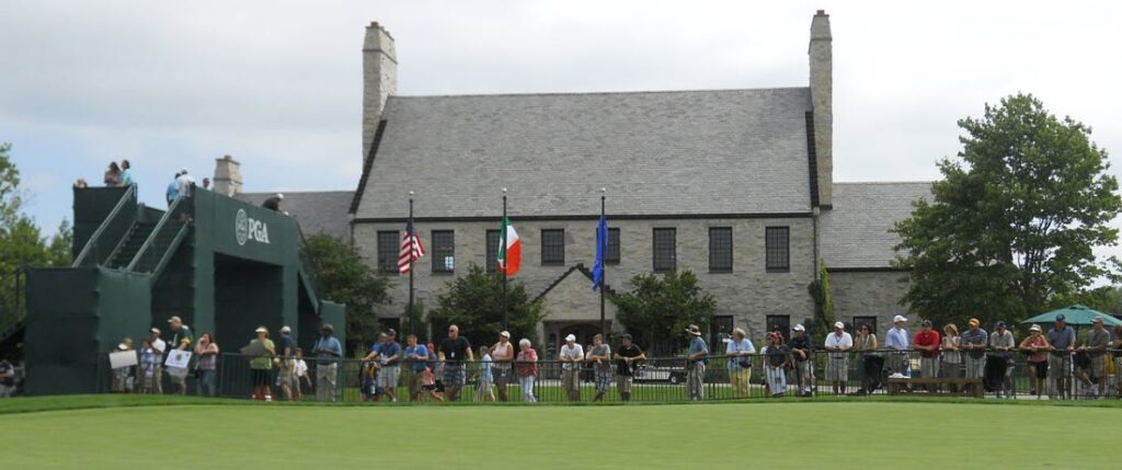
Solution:
M834 58L830 16L818 10L810 21L810 103L815 111L818 204L834 205Z

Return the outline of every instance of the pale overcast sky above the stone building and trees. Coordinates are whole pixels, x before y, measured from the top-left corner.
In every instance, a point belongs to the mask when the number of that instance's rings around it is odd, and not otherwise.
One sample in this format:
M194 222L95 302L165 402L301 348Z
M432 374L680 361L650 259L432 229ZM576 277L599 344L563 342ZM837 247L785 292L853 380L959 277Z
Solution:
M122 158L154 205L223 154L246 191L353 190L371 20L401 94L743 89L806 86L824 8L837 181L936 178L955 121L1018 91L1119 155L1122 2L1073 3L6 0L0 141L49 230Z

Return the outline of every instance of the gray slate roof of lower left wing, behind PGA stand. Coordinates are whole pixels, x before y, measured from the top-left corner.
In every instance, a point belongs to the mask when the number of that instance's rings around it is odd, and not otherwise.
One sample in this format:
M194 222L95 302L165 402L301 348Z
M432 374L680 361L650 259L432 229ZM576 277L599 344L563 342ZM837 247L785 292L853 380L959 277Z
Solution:
M282 192L280 210L296 218L305 236L327 233L350 241L350 218L347 210L353 191ZM241 193L236 197L261 205L276 193Z

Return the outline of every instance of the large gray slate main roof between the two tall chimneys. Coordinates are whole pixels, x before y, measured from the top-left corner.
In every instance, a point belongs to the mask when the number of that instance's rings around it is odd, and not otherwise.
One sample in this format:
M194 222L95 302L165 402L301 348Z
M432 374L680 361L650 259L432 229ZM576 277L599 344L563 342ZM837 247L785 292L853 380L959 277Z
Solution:
M810 211L807 87L390 96L358 218ZM625 208L625 209L624 209Z

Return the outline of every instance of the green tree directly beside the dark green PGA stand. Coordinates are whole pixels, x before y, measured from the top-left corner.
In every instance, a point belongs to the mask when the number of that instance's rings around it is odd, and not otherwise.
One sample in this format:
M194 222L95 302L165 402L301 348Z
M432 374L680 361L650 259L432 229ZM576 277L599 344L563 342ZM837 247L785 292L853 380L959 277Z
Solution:
M369 344L381 330L374 306L389 302L389 279L362 262L358 251L339 238L311 236L304 250L315 266L318 294L347 306L346 350Z

